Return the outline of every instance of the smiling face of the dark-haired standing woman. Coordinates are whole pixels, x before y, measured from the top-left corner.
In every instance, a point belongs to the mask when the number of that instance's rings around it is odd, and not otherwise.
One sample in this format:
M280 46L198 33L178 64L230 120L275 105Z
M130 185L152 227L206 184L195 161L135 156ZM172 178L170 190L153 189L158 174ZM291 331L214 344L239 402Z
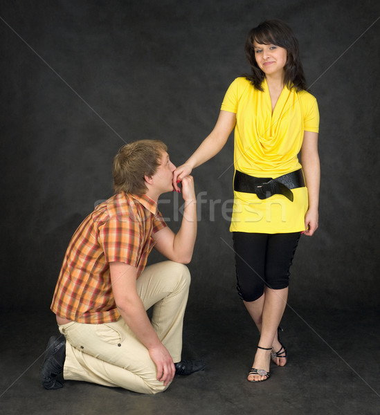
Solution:
M287 63L287 50L273 44L258 44L253 42L255 59L259 68L266 76L284 75Z

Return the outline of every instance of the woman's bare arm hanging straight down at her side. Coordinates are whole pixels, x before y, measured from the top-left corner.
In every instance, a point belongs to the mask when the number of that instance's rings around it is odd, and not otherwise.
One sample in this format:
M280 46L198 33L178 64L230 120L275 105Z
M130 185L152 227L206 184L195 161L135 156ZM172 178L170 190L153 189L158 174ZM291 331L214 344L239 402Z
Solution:
M318 228L318 203L320 163L318 156L318 133L305 131L301 147L301 163L309 192L309 210L305 215L304 234L311 237Z

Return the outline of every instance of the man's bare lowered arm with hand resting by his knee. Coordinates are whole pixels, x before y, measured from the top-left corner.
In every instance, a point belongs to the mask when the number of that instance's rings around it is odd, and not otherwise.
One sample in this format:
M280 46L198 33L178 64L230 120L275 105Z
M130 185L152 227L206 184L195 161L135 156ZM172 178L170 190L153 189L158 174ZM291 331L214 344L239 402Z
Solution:
M174 363L168 349L160 342L154 331L143 302L138 296L136 268L123 262L111 262L109 270L112 291L121 317L149 351L157 367L157 380L163 382L165 386L168 385L174 378Z

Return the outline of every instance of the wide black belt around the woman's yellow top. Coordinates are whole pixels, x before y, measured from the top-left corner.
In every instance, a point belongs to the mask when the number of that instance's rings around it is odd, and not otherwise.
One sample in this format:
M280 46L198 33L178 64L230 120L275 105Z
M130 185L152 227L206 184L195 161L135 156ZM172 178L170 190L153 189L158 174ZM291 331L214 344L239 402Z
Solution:
M292 202L293 192L291 192L291 189L297 187L305 187L302 169L276 178L253 177L236 170L233 179L233 190L235 192L255 193L259 199L267 199L273 194L282 194Z

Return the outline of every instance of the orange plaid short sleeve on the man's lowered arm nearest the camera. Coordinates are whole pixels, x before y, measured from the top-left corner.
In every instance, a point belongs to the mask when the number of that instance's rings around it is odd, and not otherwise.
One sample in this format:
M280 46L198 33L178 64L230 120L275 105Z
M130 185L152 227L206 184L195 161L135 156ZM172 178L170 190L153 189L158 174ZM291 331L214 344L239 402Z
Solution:
M109 262L124 262L130 266L138 266L141 257L141 232L138 221L114 216L102 223L98 228L98 241Z

